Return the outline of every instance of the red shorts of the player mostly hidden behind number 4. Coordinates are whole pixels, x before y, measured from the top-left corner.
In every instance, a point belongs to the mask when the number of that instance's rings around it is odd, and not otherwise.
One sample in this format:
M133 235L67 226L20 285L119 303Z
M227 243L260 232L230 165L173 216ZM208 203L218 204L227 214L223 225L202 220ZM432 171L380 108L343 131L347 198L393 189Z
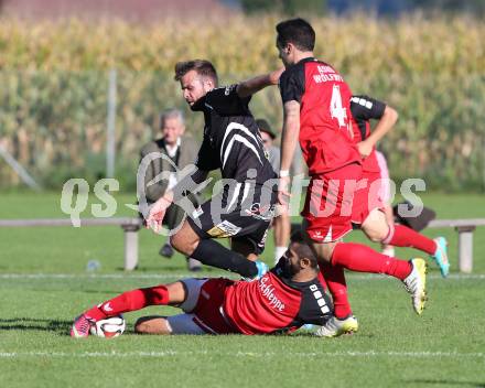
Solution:
M364 223L371 211L381 209L385 204L380 173L363 171L362 180L355 191L352 222L354 224Z

